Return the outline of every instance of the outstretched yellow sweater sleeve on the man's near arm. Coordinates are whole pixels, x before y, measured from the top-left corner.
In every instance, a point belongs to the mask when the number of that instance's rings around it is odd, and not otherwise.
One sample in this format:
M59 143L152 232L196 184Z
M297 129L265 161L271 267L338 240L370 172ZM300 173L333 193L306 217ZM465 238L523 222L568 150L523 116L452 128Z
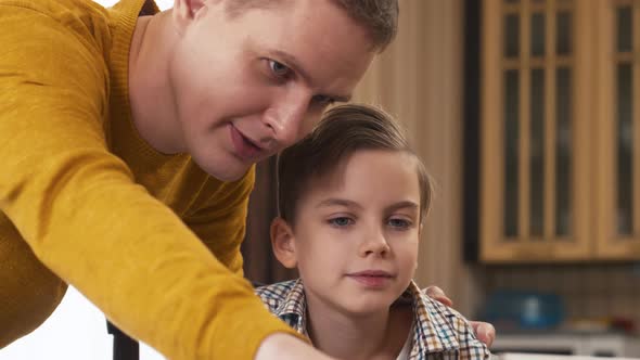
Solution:
M295 335L107 151L90 29L7 4L0 24L0 210L36 256L170 359L252 359Z

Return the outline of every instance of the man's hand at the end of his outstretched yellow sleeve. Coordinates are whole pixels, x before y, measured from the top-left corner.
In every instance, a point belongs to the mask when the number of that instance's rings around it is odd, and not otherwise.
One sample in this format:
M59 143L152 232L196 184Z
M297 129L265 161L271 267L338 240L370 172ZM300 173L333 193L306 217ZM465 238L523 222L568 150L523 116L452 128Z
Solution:
M273 334L268 336L254 360L335 360L316 350L303 340L289 334Z

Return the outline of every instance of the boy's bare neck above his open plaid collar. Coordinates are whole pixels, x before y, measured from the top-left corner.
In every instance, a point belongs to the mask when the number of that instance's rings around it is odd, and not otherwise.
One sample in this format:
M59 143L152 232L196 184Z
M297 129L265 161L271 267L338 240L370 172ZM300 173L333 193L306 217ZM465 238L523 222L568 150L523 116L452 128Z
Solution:
M413 319L410 305L354 317L311 300L307 311L313 346L338 359L396 359Z

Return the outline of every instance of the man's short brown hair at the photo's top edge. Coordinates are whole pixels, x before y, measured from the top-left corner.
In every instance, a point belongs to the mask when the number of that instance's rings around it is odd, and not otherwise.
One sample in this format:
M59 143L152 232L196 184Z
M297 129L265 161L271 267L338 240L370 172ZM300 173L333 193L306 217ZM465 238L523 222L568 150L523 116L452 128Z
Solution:
M231 16L235 16L243 10L268 8L269 5L273 5L276 1L283 0L229 0L227 2L227 12ZM367 29L375 48L380 52L384 51L394 40L398 31L398 0L331 1L344 9L354 21Z

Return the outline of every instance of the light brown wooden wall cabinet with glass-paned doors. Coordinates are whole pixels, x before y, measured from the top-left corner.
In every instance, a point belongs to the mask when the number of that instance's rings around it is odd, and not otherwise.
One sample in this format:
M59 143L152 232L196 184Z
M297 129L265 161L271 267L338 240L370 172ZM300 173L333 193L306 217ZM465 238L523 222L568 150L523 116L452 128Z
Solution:
M640 259L640 1L485 0L482 38L481 259Z

